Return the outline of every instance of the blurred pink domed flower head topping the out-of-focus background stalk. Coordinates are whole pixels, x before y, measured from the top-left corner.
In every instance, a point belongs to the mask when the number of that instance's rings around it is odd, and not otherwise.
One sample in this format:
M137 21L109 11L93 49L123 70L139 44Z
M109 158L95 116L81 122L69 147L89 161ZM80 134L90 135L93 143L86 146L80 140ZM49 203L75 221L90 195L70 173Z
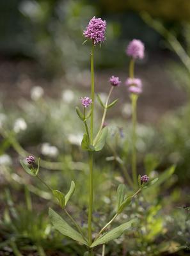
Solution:
M145 56L145 45L141 40L133 39L127 46L126 53L134 59L143 59Z

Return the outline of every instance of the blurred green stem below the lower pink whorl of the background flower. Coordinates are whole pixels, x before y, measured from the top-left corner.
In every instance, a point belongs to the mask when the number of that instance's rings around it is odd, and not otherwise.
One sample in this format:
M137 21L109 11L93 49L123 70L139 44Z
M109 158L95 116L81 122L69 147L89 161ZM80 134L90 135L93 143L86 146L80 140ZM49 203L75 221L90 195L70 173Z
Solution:
M138 175L136 168L136 103L138 95L132 94L132 179L135 186L138 186Z

